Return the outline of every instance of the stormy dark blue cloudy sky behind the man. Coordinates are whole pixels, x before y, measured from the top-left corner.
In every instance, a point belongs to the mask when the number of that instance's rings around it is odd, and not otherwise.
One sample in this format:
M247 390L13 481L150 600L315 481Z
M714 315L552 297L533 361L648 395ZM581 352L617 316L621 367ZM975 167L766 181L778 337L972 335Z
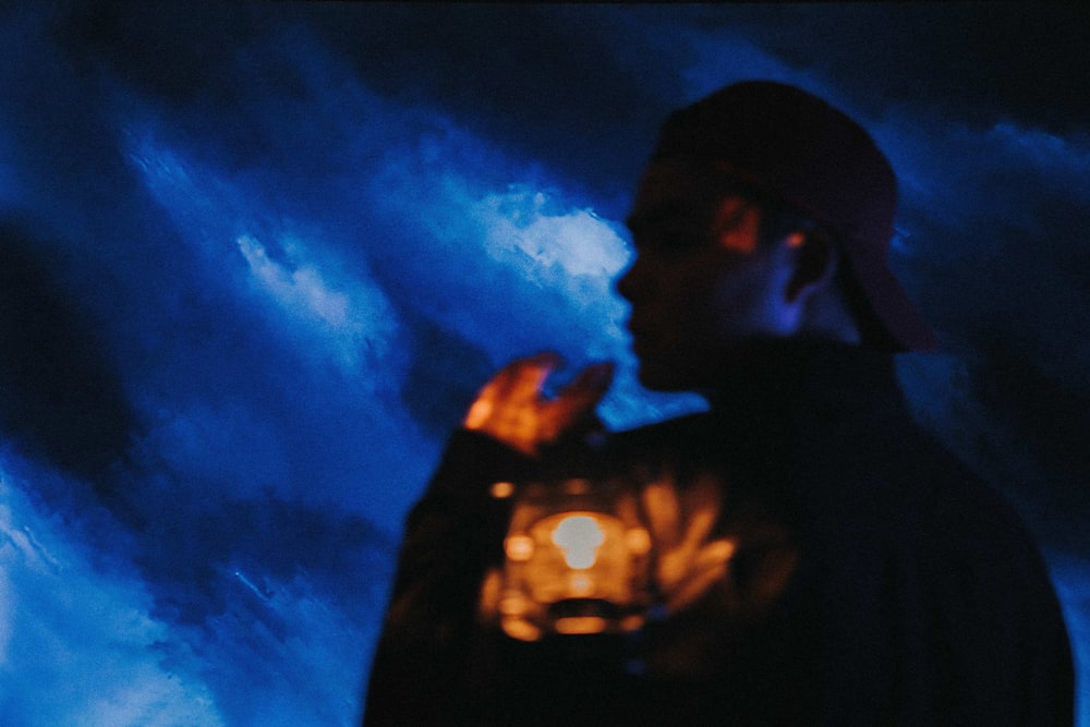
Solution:
M0 716L352 724L401 517L496 366L618 360L616 427L697 405L635 385L610 281L662 117L747 77L888 153L945 349L904 386L1024 512L1090 668L1088 19L5 4Z

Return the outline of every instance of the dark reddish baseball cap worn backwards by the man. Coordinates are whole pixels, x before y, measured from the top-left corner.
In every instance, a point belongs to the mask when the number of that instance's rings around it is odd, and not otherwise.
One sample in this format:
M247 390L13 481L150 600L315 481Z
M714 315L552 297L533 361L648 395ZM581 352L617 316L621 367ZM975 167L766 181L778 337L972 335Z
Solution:
M788 84L744 81L681 108L652 160L710 166L832 230L879 322L905 350L936 340L889 269L897 179L858 123Z

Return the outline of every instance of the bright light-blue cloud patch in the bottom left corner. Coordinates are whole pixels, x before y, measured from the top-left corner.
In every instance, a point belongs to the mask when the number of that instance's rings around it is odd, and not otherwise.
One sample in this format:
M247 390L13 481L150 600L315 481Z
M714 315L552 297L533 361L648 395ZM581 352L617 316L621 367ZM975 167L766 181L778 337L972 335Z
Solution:
M85 555L0 459L0 713L23 727L223 720L203 680L165 668L168 625L137 578ZM96 562L98 560L99 562ZM114 564L117 566L117 564ZM192 666L192 665L191 665Z

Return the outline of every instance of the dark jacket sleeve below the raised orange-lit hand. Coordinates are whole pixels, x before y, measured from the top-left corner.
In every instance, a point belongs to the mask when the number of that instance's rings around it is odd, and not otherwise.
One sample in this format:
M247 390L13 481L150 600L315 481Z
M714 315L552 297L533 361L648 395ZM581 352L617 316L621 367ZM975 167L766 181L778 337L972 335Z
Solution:
M473 432L451 437L405 523L392 594L372 664L363 722L440 725L452 711L479 631L486 568L498 558L509 505L493 483L518 478L529 460Z

